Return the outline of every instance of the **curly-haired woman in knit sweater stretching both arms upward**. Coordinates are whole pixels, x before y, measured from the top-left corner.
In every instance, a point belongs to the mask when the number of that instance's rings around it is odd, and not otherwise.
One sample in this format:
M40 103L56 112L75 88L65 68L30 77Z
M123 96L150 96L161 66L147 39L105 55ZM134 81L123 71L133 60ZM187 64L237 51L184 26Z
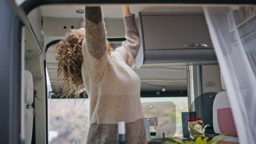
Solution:
M140 39L135 15L123 6L125 38L110 52L101 7L85 7L85 28L71 30L57 44L58 74L63 93L83 84L90 98L87 143L118 143L118 122L126 122L127 143L147 143L140 101L141 81L131 69ZM83 41L83 43L82 43Z

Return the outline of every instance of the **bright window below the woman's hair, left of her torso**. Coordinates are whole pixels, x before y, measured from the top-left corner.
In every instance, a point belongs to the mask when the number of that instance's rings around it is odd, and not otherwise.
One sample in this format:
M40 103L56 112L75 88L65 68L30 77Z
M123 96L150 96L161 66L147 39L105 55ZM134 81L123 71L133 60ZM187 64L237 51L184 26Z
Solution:
M50 99L48 141L85 143L89 131L89 99Z

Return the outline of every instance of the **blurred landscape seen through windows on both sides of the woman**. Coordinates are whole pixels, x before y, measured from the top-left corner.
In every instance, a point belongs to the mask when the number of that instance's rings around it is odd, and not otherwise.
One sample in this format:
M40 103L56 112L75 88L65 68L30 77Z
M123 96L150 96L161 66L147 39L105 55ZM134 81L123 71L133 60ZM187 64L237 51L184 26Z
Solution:
M182 136L181 112L187 97L141 98L145 118L158 117L155 137ZM152 105L152 109L149 108ZM151 107L151 106L150 106ZM89 131L89 99L49 99L49 144L85 143Z

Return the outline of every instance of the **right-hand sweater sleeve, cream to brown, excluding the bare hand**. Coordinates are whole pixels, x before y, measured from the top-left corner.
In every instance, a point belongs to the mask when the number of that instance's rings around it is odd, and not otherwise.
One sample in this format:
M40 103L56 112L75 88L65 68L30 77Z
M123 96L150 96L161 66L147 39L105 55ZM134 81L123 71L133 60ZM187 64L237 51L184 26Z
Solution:
M141 39L139 38L135 14L124 16L124 23L126 40L123 41L122 46L118 47L115 51L120 52L124 61L131 67L135 62L139 46L141 46Z

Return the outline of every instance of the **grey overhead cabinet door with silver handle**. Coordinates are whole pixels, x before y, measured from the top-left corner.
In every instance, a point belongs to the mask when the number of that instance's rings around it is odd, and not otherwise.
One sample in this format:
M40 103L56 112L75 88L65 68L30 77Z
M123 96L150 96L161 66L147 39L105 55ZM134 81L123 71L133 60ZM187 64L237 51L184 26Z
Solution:
M141 19L145 50L213 48L204 15L142 15Z

